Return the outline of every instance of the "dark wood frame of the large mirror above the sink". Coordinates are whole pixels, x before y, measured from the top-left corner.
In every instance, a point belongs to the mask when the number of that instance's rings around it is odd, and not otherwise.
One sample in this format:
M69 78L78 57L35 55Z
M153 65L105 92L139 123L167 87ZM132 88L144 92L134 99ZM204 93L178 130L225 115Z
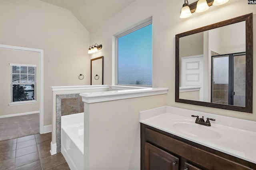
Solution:
M246 23L246 92L245 92L246 93L246 100L245 100L246 104L245 104L245 107L180 99L179 98L179 92L180 92L180 90L179 90L179 87L180 87L180 60L179 60L180 38L182 38L184 36L191 35L191 34L196 34L199 32L211 30L214 28L219 28L222 26L235 24L235 23L242 22L242 21L245 21L245 23ZM176 35L176 49L175 49L176 50L176 54L175 54L175 102L252 113L252 87L253 87L253 81L252 81L252 75L253 75L253 36L252 35L253 34L252 34L252 32L253 32L253 28L252 28L252 13L251 13L251 14L246 14L244 16L232 18L230 20L218 22L216 24L204 26L204 27L201 27L201 28L198 28L195 30L181 33L181 34L177 34Z

